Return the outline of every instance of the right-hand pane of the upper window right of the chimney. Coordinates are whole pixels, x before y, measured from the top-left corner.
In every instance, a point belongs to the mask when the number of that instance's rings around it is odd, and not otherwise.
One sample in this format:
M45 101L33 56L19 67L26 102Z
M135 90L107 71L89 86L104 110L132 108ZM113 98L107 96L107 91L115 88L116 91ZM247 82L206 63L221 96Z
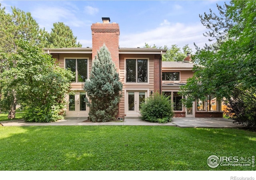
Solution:
M138 60L138 81L137 82L148 82L148 60Z

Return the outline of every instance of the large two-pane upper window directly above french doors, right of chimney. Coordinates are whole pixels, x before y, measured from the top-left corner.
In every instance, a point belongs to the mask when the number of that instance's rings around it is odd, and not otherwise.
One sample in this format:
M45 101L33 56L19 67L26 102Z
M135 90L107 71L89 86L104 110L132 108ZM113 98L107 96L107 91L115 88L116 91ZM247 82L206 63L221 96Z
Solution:
M126 82L148 82L147 59L126 59Z

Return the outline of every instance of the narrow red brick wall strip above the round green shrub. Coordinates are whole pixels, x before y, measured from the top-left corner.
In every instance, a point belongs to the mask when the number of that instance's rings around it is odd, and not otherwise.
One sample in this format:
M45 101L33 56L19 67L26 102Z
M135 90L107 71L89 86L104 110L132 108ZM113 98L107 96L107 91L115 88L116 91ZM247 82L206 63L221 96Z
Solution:
M162 67L161 66L162 66L162 61L160 61L160 55L159 56L155 55L154 56L154 92L160 92L160 87L162 86Z

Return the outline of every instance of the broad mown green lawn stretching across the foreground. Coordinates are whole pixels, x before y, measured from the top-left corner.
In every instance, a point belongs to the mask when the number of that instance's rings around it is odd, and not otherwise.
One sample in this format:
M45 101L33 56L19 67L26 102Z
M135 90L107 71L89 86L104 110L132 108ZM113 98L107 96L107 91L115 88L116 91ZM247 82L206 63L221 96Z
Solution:
M206 164L256 155L256 132L170 126L0 126L0 170L255 170Z

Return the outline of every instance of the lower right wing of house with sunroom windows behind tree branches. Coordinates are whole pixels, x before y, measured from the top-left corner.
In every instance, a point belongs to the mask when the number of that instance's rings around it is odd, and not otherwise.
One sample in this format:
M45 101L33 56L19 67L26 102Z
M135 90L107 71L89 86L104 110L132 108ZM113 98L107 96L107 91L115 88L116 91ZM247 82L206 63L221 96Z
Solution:
M194 64L191 62L190 53L182 62L162 62L162 93L170 96L174 106L174 117L196 117L196 118L222 118L221 100L208 96L207 100L197 99L191 108L182 105L182 97L178 92L180 86L186 84L187 79L193 76Z

